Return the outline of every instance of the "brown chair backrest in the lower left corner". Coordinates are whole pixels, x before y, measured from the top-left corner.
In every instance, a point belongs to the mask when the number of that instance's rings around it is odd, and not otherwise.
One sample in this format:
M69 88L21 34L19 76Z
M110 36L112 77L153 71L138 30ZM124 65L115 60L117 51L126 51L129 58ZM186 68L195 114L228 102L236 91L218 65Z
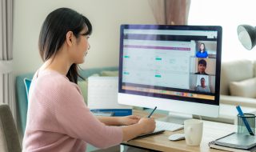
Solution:
M22 151L13 115L10 111L10 107L6 104L0 105L0 151Z

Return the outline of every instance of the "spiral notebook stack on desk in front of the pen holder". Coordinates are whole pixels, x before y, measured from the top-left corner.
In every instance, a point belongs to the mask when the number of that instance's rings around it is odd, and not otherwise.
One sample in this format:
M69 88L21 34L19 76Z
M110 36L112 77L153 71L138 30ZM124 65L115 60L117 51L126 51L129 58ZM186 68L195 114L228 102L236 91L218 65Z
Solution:
M218 150L256 152L256 136L232 133L209 142L209 146Z

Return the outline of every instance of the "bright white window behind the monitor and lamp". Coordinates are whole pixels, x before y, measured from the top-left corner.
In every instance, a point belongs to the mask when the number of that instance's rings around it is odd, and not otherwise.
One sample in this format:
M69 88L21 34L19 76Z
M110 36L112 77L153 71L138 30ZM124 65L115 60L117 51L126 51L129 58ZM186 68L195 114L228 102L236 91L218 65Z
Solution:
M255 6L255 0L194 0L188 24L222 26L222 61L256 59L256 47L246 50L237 35L240 24L256 26Z

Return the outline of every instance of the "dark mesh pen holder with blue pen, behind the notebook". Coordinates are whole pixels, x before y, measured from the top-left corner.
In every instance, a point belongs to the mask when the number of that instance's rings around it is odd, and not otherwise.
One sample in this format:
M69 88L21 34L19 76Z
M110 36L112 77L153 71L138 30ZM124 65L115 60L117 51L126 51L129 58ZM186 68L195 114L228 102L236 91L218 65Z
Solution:
M250 126L250 129L255 134L255 114L244 114L244 116L241 116L240 114L238 114L238 133L250 134L242 118L246 119L246 121Z

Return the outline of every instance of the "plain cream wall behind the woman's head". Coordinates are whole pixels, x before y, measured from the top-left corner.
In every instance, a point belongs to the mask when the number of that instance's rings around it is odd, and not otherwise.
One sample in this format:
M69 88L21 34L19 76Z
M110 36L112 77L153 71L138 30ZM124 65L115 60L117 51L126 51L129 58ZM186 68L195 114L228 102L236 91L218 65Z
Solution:
M91 49L82 68L118 66L121 24L154 24L148 0L14 0L14 74L34 72L42 64L38 36L52 10L69 7L93 25Z

